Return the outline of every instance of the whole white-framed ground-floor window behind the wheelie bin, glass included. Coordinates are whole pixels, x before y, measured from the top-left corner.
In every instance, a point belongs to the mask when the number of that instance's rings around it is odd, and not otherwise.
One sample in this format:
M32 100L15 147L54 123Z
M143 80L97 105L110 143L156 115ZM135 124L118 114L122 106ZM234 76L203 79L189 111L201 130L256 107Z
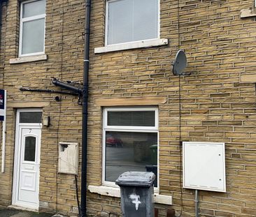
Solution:
M104 109L103 184L114 185L127 171L158 174L157 107Z

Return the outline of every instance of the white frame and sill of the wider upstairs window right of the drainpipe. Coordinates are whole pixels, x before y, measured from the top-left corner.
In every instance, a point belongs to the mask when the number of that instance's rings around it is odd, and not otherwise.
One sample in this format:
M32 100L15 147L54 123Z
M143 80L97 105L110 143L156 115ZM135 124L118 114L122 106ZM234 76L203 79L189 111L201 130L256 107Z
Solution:
M160 0L158 0L158 22L157 22L157 38L150 38L145 40L136 40L130 41L127 43L117 43L113 45L108 45L108 3L113 1L119 0L106 0L106 19L105 19L105 39L104 47L96 47L94 49L94 53L103 53L103 52L113 52L118 50L129 50L129 49L136 49L141 47L153 47L153 46L160 46L160 45L167 45L168 39L160 38Z

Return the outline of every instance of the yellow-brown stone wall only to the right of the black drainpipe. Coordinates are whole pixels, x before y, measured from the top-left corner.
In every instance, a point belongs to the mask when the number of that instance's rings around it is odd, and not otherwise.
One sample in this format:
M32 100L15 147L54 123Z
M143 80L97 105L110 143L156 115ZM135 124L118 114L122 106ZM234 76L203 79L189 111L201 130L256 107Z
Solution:
M180 194L180 140L225 142L227 193L200 191L200 214L255 215L255 84L241 82L241 76L255 69L256 26L255 18L239 16L241 9L252 5L251 1L161 1L160 36L168 38L169 45L91 54L90 137L95 140L89 144L89 170L101 168L102 107L94 106L96 99L165 96L167 102L158 105L160 193L173 196L177 211L183 205L182 216L194 216L194 190L183 189ZM104 10L102 1L93 4L92 49L104 46ZM185 50L186 72L191 73L180 80L171 72L178 49ZM101 170L89 182L100 185ZM99 199L90 196L90 214L119 213L108 197ZM158 206L159 216L166 216L170 207Z

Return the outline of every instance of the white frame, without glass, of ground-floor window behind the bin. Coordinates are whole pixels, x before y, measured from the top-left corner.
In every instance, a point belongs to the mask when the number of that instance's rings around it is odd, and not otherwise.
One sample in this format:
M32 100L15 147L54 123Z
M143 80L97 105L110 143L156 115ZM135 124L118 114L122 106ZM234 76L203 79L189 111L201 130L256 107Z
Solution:
M154 111L155 126L108 126L108 112L138 112L138 111ZM157 133L157 188L155 192L159 192L159 130L158 130L158 107L105 107L103 111L103 133L102 133L102 185L118 187L115 182L105 181L106 167L106 131L118 132L138 132L138 133Z

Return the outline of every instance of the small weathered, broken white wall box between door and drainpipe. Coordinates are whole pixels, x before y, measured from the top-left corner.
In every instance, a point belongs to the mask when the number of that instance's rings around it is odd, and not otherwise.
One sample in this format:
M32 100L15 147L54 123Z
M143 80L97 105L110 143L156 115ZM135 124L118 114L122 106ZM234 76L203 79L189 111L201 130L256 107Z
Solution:
M58 172L78 174L78 143L59 142Z

